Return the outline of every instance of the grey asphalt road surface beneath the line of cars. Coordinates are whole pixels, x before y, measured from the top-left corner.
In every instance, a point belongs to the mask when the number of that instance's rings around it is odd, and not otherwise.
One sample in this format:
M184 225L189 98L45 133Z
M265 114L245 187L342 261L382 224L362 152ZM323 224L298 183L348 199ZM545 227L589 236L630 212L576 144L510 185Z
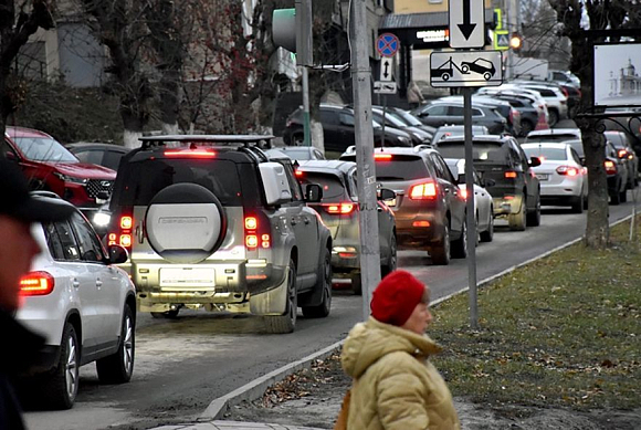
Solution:
M610 207L610 219L614 222L631 211L631 202ZM509 231L497 221L494 241L476 249L479 281L585 232L585 214L545 208L543 213L542 226L524 232ZM433 266L427 253L402 251L399 266L429 284L433 300L467 286L465 260ZM261 333L260 318L251 316L181 312L170 321L141 314L129 384L98 385L95 366L85 366L73 409L28 411L27 422L31 430L97 430L148 429L193 420L214 398L344 338L360 319L360 297L340 291L335 292L328 318L300 316L291 335Z

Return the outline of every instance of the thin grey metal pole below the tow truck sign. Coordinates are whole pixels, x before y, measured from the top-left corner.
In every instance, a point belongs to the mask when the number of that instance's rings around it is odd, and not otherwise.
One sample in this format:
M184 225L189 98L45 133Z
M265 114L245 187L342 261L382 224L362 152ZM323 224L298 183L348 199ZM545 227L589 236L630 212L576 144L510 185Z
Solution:
M476 291L476 217L474 209L474 151L472 146L472 90L463 88L463 122L465 133L465 190L467 217L467 285L470 287L470 326L479 328Z

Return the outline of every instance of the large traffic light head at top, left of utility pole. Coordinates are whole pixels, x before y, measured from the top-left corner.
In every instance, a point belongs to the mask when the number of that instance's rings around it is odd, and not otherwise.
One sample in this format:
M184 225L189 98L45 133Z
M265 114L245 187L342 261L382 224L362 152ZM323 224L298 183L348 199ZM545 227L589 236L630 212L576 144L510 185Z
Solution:
M294 52L297 65L313 65L312 2L296 1L295 9L274 9L272 40L276 46Z

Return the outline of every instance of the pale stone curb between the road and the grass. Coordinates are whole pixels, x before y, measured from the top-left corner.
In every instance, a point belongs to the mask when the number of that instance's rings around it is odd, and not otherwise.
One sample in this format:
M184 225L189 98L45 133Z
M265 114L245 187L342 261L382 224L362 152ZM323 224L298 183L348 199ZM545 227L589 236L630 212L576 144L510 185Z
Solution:
M626 222L628 220L630 220L632 218L632 214L629 214L613 223L610 224L610 227L614 227L617 224L620 224L622 222ZM584 240L584 237L577 238L575 240L571 240L567 243L564 243L563 245L556 247L555 249L551 249L540 255L537 255L533 259L529 259L527 261L524 261L519 264L513 265L512 268L507 268L506 270L504 270L503 272L500 272L495 275L492 275L490 277L486 277L482 281L477 282L477 287L481 287L485 284L488 284L490 282L506 275L507 273L513 272L514 270L522 268L526 264L533 263L537 260L544 259L557 251L560 251L565 248L571 247L577 242L580 242ZM456 293L452 293L450 295L446 295L444 297L438 298L435 301L432 302L432 305L438 305L439 303L442 303L446 300L450 300L459 294L465 293L470 290L469 286L458 291ZM334 350L338 349L340 346L343 346L343 343L345 340L339 340L336 342L335 344L332 344L314 354L311 354L306 357L301 358L300 360L290 363L288 365L285 365L281 368L277 368L276 370L273 370L264 376L261 376L260 378L256 378L254 380L252 380L249 384L245 384L244 386L237 388L235 390L219 397L217 399L214 399L211 403L209 403L209 406L207 407L207 409L204 410L204 412L202 412L197 421L198 422L208 422L208 421L213 421L217 419L221 419L223 417L223 415L225 412L229 411L229 409L233 406L237 406L239 403L241 403L244 400L254 400L258 399L259 397L261 397L263 395L263 392L274 382L283 379L285 376L287 376L288 374L293 374L304 367L309 367L309 365L312 364L312 361L314 361L315 359L323 359L328 357L329 355L332 355L332 353L334 353Z

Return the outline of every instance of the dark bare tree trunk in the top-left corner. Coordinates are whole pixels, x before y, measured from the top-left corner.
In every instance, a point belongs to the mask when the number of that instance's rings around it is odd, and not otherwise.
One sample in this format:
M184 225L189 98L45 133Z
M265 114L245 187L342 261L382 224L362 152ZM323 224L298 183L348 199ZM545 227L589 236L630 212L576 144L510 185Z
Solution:
M25 87L12 73L11 64L31 34L39 28L53 27L48 1L0 0L0 136L4 136L7 117L25 96Z

